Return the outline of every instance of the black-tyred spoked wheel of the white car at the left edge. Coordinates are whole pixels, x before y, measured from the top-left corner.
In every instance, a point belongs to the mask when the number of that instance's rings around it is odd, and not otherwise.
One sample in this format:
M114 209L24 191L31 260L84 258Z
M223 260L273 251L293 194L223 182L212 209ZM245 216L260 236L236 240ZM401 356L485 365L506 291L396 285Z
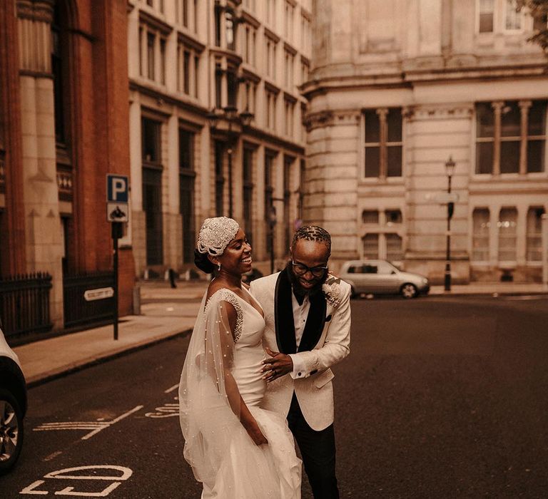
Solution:
M16 398L0 389L0 475L17 461L23 446L23 413Z

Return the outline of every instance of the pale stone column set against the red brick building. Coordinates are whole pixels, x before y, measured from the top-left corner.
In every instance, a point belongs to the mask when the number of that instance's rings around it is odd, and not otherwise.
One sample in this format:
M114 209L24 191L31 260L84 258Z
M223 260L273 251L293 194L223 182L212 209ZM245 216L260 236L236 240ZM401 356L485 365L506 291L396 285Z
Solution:
M17 2L26 267L31 272L46 271L52 275L51 321L54 329L59 329L63 320L63 245L51 78L53 13L53 0Z

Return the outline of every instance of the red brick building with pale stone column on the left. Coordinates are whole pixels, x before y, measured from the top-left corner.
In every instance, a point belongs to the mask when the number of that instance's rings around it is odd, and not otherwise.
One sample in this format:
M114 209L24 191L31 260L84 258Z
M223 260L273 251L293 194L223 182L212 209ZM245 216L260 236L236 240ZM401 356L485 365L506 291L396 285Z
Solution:
M51 275L57 330L74 312L68 279L112 270L106 173L130 165L126 9L126 0L0 2L0 284L12 282L0 305L17 320L37 310L13 294L22 276ZM133 282L123 249L121 314Z

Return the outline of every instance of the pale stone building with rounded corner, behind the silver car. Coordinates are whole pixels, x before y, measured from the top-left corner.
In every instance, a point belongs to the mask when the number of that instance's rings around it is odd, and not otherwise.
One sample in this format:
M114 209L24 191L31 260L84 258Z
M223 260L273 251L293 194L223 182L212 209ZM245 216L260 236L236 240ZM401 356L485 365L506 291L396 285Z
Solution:
M539 281L548 77L527 38L546 19L512 0L318 0L313 19L304 218L335 261L441 282L451 201L454 282Z

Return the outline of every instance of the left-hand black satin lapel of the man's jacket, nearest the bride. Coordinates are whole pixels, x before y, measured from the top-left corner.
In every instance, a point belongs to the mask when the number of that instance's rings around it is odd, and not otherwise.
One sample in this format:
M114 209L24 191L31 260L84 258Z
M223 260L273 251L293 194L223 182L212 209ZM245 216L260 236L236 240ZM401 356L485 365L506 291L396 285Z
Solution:
M280 272L274 291L274 324L276 343L283 354L295 354L295 321L293 321L293 302L291 300L291 283L285 271Z

